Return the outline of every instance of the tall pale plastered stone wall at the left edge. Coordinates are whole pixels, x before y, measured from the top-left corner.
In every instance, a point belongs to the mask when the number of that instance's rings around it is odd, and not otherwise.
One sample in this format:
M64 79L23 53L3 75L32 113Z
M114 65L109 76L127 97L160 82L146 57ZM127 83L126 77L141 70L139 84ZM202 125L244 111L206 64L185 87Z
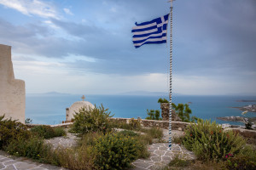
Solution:
M15 79L11 47L0 44L0 116L25 122L25 82Z

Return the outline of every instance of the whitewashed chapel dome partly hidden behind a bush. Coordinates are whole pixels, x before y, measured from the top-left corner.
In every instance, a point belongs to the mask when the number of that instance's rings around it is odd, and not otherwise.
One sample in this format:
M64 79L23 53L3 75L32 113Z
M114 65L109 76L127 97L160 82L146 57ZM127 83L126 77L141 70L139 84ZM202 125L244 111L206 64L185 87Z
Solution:
M95 106L92 105L89 101L77 101L73 103L69 108L67 108L66 119L68 122L72 121L76 112L79 112L82 108L85 108L86 111L94 109Z

